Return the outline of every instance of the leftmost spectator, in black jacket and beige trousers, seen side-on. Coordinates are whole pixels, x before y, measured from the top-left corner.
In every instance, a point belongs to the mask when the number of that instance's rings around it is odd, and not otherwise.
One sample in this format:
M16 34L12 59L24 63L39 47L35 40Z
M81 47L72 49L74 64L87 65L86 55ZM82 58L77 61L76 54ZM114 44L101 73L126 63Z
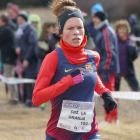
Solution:
M0 16L0 50L1 60L4 68L4 75L6 77L14 76L14 65L16 62L15 53L15 36L13 30L8 26L8 16ZM15 85L8 85L10 91L10 104L17 104L18 93Z

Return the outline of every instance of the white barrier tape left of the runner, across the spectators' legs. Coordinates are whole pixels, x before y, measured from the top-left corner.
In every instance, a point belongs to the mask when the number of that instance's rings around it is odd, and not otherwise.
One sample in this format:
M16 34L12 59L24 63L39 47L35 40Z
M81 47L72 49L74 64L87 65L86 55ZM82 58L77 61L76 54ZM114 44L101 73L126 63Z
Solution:
M0 75L0 79L6 83L6 84L10 84L10 85L14 85L14 84L24 84L24 83L35 83L34 79L28 79L28 78L13 78L13 77L9 77L6 78L3 75Z

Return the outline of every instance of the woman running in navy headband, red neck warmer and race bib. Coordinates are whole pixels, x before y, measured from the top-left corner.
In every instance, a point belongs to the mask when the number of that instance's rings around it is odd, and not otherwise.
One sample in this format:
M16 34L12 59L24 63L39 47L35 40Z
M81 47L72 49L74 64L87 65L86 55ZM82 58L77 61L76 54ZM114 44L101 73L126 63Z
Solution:
M60 48L48 54L34 87L35 106L51 101L46 140L101 140L95 114L95 92L109 113L117 107L97 75L100 56L84 49L87 37L81 11L72 0L55 0Z

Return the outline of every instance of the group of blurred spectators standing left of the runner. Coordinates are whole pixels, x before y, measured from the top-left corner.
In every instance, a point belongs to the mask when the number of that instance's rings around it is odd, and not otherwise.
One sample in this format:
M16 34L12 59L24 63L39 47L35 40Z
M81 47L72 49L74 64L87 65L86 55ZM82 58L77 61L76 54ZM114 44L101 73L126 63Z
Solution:
M7 4L6 11L0 16L0 72L6 77L36 79L46 54L59 47L56 23L42 24L37 14L20 11L12 3ZM33 84L24 84L22 88L25 105L33 106ZM22 90L15 85L8 85L8 89L10 104L17 104Z

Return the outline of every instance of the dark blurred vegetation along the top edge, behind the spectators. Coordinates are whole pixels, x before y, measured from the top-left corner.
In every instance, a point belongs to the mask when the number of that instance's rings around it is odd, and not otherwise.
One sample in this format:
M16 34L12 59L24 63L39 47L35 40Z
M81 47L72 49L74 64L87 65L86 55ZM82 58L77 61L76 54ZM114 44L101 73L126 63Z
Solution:
M29 7L48 7L51 0L1 0L0 8L5 9L6 4L12 2L17 4L20 8ZM91 7L96 3L101 3L108 13L109 20L117 20L120 18L128 18L131 13L140 15L140 0L75 0L80 9L90 14ZM88 18L89 20L89 18Z

